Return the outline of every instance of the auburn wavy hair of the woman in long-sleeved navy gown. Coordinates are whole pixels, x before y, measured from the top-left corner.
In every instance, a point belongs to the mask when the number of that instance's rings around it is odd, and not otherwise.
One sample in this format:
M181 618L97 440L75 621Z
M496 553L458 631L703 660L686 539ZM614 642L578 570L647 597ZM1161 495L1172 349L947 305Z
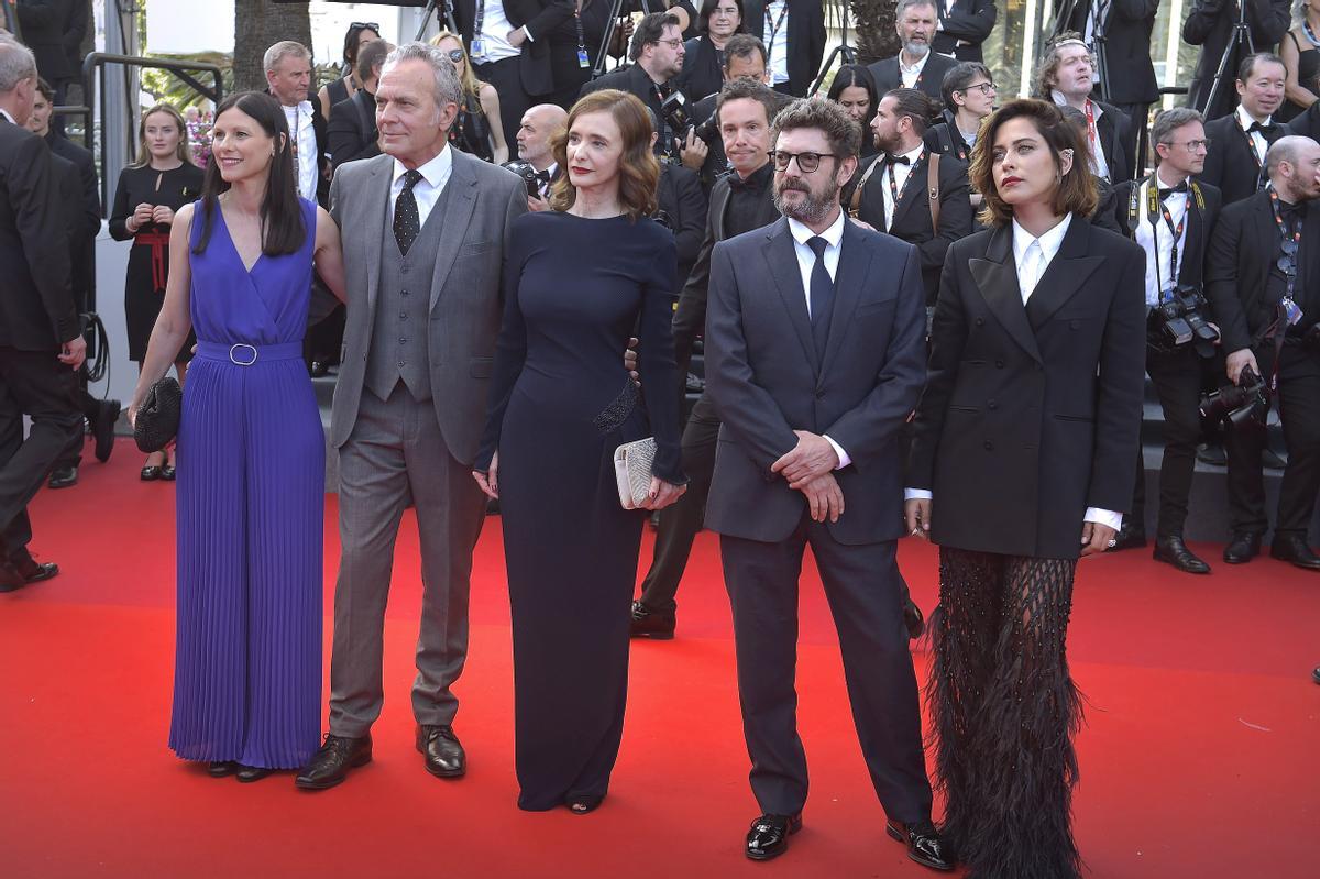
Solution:
M602 88L583 96L569 111L562 131L554 136L550 148L554 161L564 173L550 189L550 207L566 211L577 201L577 187L569 182L569 135L573 124L587 114L610 114L623 137L619 156L619 202L628 219L636 222L656 212L656 187L660 185L660 162L651 152L651 116L647 106L635 95L616 88Z

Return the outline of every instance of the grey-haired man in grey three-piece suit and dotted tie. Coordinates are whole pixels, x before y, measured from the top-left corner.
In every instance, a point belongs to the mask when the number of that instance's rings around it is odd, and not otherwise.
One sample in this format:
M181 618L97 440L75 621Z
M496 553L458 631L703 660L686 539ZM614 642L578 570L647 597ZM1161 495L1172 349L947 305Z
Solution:
M446 145L459 99L445 53L418 42L396 49L376 90L385 154L342 165L330 189L352 292L330 428L343 554L330 732L300 788L334 787L371 760L385 598L409 502L422 568L417 750L432 775L466 771L450 688L467 656L469 577L486 512L470 472L500 322L500 263L527 189Z

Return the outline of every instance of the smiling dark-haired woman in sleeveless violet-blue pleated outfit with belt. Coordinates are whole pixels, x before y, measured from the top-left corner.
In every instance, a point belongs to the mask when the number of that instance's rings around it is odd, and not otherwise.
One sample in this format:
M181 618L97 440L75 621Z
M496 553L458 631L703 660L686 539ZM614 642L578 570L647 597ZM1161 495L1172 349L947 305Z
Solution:
M170 231L165 305L129 418L189 330L178 432L178 599L169 744L211 775L297 768L321 729L325 434L302 363L313 263L343 298L339 230L293 183L265 94L215 114L202 199Z

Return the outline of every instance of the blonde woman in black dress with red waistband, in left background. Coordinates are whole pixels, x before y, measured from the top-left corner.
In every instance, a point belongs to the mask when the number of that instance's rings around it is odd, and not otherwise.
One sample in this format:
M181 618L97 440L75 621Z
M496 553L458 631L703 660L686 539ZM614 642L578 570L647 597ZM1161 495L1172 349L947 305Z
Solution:
M165 302L169 280L169 231L174 211L202 194L202 169L187 150L183 117L170 104L156 104L137 127L137 164L119 174L110 234L117 242L133 242L124 278L124 311L128 318L128 359L141 371L147 342ZM191 359L194 335L174 358L178 381ZM173 450L147 455L141 478L147 482L174 479Z

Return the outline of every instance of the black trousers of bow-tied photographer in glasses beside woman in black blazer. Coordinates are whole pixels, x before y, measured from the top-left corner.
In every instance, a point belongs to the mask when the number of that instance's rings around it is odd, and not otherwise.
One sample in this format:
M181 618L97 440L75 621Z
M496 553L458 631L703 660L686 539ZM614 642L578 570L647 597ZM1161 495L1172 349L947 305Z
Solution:
M1146 348L1146 372L1164 410L1164 461L1159 469L1159 537L1181 537L1187 502L1196 470L1196 443L1201 440L1201 358L1191 344L1172 351ZM1129 516L1146 529L1146 462L1137 450L1137 487Z

